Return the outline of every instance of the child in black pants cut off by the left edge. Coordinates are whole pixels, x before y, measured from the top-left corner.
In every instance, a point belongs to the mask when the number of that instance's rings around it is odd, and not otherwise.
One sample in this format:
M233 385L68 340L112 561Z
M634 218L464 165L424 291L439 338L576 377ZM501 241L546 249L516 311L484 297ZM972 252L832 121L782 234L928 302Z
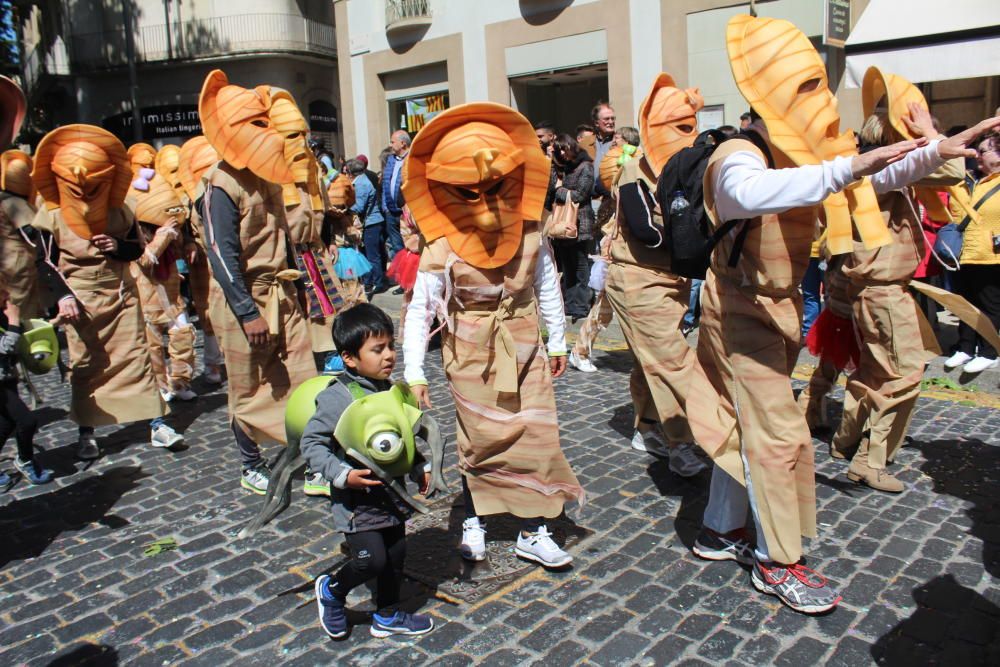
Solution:
M32 484L48 484L52 471L35 461L34 439L38 420L17 393L17 343L21 338L21 309L10 298L7 282L0 278L0 447L11 433L17 434L17 458L14 467ZM11 477L0 472L0 486L7 487Z

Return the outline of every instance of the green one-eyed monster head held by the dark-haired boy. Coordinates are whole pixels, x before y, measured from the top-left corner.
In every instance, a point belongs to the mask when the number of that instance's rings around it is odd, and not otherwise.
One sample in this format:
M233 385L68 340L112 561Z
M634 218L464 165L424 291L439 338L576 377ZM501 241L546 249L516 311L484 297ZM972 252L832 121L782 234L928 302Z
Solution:
M390 477L400 477L413 468L417 451L413 429L420 415L409 388L397 384L388 391L355 396L333 436L344 449L370 459Z

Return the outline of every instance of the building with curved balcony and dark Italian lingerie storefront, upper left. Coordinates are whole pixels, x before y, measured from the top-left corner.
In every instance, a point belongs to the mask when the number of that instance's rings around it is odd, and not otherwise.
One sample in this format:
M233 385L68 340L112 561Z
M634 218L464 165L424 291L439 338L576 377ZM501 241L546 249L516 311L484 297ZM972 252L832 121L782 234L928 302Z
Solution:
M19 19L36 134L82 122L126 143L181 143L200 133L198 95L219 68L288 90L317 136L341 146L329 0L63 0L25 3Z

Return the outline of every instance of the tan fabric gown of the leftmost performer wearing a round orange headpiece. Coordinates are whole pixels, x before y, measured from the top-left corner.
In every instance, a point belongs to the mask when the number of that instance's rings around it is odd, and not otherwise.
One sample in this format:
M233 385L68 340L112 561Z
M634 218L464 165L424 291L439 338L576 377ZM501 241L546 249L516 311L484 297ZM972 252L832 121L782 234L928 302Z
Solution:
M59 247L59 271L82 311L78 322L66 326L70 419L95 427L167 414L153 376L129 264L106 257L77 236L59 210L43 208L33 224L52 234ZM104 233L124 238L133 224L123 209L111 209Z

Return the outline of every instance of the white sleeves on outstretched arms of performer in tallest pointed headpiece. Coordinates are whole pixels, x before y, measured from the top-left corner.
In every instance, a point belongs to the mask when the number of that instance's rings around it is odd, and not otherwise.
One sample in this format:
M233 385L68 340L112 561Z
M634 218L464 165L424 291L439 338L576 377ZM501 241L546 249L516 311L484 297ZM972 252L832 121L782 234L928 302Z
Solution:
M907 154L871 176L876 193L898 190L924 178L945 163L938 155L938 141ZM715 211L720 222L781 213L800 206L815 206L855 179L850 157L821 164L768 169L757 153L736 151L712 174Z

